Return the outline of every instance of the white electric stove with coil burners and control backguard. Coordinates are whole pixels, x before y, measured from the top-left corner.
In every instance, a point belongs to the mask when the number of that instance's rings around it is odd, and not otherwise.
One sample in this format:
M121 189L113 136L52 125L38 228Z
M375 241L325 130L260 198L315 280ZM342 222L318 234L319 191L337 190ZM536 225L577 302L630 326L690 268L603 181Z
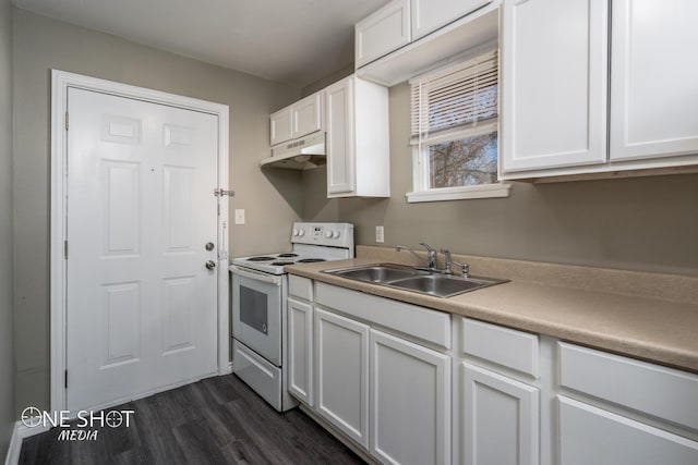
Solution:
M277 411L287 392L287 265L353 258L353 225L293 223L292 249L232 260L232 371Z

